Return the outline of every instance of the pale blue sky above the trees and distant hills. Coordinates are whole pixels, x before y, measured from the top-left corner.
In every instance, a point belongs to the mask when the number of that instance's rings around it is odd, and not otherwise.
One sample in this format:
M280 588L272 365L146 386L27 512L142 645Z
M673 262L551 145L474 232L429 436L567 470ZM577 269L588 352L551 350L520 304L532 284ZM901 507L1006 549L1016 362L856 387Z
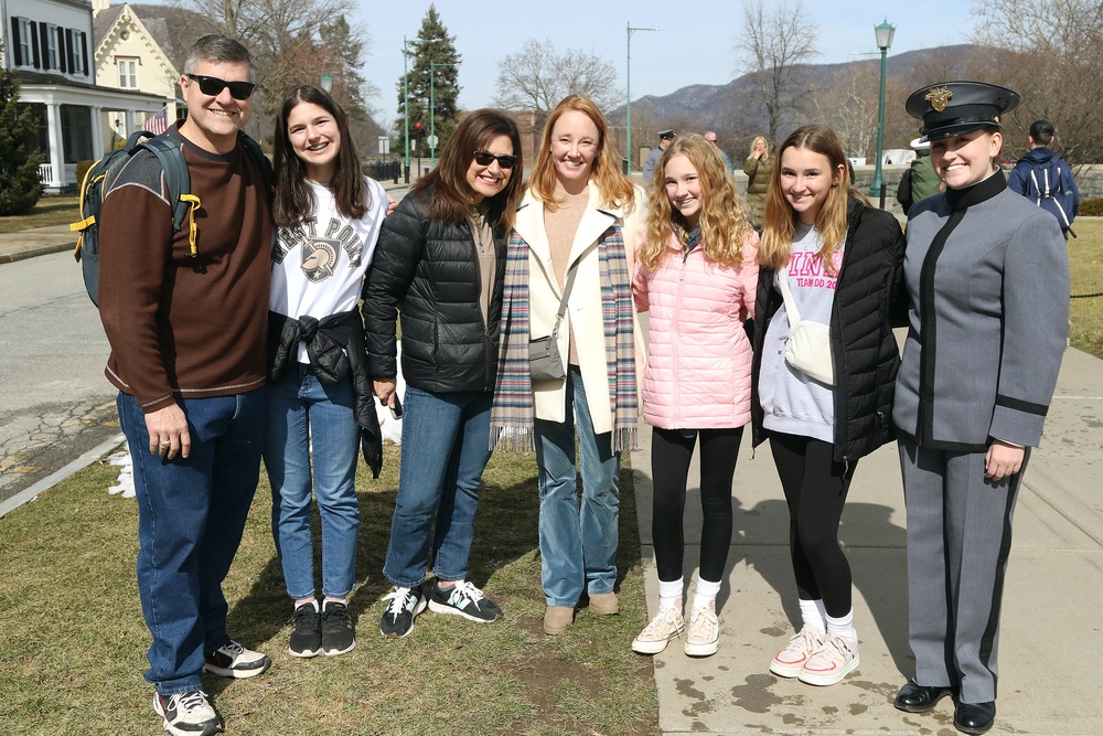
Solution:
M362 6L365 9L357 20L366 24L372 38L364 76L381 89L371 104L383 119L396 115L403 34L417 35L429 4L429 0L401 0L386 6L382 15L366 8L383 7ZM965 43L973 29L970 4L963 0L805 0L804 7L820 29L815 61L834 63L876 52L874 26L886 19L897 28L890 56ZM633 99L667 95L689 84L726 84L743 73L732 50L732 39L742 30L738 0L437 0L436 6L463 57L460 107L464 109L492 103L497 63L529 38L548 39L560 52L581 49L603 57L617 68L617 85L623 90L629 21L638 28L663 28L632 34Z

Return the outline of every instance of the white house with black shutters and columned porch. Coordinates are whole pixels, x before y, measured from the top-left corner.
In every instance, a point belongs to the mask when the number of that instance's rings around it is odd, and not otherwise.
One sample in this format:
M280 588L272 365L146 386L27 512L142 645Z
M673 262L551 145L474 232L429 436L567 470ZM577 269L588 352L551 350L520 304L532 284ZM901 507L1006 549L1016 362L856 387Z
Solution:
M92 4L86 0L0 0L3 63L20 83L20 102L39 120L47 192L79 185L76 164L103 157L126 132L173 103L174 95L96 84ZM120 117L125 130L113 129Z

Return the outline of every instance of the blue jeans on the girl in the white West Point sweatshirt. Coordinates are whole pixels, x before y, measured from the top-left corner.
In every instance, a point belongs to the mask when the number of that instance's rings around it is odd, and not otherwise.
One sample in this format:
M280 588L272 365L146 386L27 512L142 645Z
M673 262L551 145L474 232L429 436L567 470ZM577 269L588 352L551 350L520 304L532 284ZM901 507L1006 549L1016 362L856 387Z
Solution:
M291 365L268 386L265 468L272 487L272 538L287 595L314 595L313 492L322 521L322 595L343 598L356 584L356 456L360 425L352 380L325 386L307 365ZM311 458L313 440L313 458Z

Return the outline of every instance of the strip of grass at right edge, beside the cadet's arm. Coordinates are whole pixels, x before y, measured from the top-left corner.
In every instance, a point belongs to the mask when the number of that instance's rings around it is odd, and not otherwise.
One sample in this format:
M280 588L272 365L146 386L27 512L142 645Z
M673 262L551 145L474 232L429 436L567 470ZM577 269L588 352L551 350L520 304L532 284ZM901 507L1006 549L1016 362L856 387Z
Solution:
M1069 273L1072 295L1103 292L1103 221L1078 220L1069 238ZM1096 358L1103 358L1103 296L1073 298L1069 341Z

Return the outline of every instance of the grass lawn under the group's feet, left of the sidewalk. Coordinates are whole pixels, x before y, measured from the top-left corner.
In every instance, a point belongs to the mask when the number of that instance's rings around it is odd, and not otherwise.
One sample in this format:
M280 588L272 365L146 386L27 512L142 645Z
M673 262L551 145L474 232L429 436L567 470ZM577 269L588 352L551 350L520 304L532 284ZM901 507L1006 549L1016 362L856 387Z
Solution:
M566 636L544 636L536 463L533 455L499 451L483 478L469 577L505 618L480 626L426 612L411 636L389 641L378 632L388 589L381 570L397 469L388 445L383 476L357 480L356 649L312 660L287 652L291 601L263 481L226 594L233 636L275 664L254 680L204 675L227 733L657 733L652 661L630 649L646 623L630 469L621 479L620 616L582 610ZM108 495L116 472L96 463L0 519L6 733L162 733L141 676L149 634L133 572L137 509Z

